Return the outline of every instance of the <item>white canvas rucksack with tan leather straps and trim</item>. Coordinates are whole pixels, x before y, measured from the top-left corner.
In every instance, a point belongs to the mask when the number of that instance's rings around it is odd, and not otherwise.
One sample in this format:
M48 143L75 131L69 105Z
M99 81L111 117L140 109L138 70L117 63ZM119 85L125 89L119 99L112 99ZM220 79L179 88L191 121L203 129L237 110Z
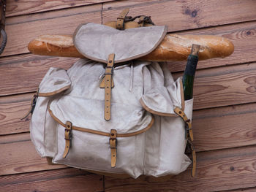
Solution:
M86 58L67 71L50 68L31 103L31 141L39 155L134 178L186 170L193 100L184 101L181 77L174 81L165 64L136 60L166 32L166 26L80 25L73 42Z

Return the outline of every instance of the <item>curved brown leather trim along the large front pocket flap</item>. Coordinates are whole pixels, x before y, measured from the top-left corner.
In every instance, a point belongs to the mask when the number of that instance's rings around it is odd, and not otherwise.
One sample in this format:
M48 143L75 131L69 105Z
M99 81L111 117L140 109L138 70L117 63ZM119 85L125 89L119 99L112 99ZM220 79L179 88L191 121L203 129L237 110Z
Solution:
M56 120L57 123L59 123L61 126L66 128L66 124L61 122L61 120L59 120L59 118L57 118L55 115L53 115L53 112L50 110L50 105L48 107L48 112L50 113L50 116ZM132 137L138 134L142 134L145 131L147 131L149 128L151 128L151 126L153 126L154 124L154 117L152 117L151 122L148 123L148 126L146 126L146 128L141 129L140 131L135 131L129 134L116 134L116 137ZM72 126L72 130L76 130L76 131L83 131L83 132L88 132L91 134L99 134L102 136L107 136L110 137L110 133L108 132L104 132L104 131L96 131L96 130L92 130L90 128L82 128L82 127L78 127L78 126Z

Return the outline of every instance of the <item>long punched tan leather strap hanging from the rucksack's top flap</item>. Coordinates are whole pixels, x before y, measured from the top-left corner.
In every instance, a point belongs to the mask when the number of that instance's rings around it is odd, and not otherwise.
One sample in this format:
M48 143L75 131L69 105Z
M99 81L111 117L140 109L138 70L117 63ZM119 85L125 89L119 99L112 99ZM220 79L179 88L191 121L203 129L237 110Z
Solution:
M105 69L105 120L111 119L111 89L112 89L112 76L113 76L113 64L115 54L108 55L108 65Z

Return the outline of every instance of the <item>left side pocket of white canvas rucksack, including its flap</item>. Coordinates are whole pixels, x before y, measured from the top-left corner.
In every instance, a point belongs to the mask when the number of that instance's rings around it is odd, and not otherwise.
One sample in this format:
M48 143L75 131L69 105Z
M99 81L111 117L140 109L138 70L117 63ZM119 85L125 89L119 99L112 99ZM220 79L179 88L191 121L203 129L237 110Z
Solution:
M53 157L56 151L56 122L48 113L49 102L70 88L71 82L64 69L51 67L43 77L31 110L30 136L37 153ZM31 104L32 107L32 104Z

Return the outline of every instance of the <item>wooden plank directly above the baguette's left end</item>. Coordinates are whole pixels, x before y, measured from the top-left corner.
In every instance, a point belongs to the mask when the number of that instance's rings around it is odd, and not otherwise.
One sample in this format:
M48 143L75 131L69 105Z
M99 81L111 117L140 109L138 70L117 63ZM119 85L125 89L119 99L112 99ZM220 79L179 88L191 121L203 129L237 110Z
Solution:
M7 18L7 46L1 56L28 53L29 42L42 34L72 34L80 23L101 23L101 4Z

